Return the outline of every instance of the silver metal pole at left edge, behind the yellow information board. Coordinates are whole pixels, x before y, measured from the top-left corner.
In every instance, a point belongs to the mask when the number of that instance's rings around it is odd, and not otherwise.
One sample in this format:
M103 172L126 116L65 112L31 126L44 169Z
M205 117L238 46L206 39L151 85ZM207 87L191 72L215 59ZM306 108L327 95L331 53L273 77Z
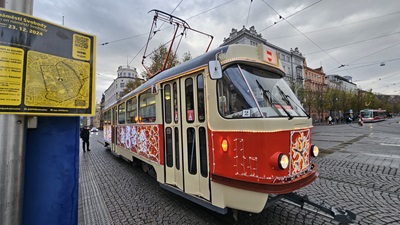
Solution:
M1 1L6 9L32 14L33 0ZM22 223L26 116L0 115L0 224Z

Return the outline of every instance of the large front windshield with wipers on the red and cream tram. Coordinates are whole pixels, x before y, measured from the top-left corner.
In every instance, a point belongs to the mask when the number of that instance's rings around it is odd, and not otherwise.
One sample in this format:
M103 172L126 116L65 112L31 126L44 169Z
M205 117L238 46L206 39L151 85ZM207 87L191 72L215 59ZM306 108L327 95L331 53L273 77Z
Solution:
M232 65L218 80L218 109L225 118L308 116L281 76L245 65Z

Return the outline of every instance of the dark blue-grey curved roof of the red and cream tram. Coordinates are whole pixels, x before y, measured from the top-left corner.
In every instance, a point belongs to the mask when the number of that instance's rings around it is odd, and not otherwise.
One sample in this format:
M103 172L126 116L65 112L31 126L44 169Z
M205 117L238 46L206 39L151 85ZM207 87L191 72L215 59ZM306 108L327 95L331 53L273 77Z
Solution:
M131 97L134 94L140 93L140 92L146 90L147 88L153 86L154 84L157 84L164 80L167 80L170 77L173 77L173 76L179 75L183 72L193 70L193 69L202 67L204 65L207 65L210 60L215 60L215 55L218 52L225 53L227 51L228 47L229 46L223 46L220 48L213 49L213 50L208 51L194 59L191 59L187 62L179 64L170 69L164 70L164 71L160 72L159 74L150 78L148 81L146 81L145 83L143 83L142 85L140 85L139 87L134 89L133 91L129 92L127 95L122 97L120 101L123 101L123 100Z

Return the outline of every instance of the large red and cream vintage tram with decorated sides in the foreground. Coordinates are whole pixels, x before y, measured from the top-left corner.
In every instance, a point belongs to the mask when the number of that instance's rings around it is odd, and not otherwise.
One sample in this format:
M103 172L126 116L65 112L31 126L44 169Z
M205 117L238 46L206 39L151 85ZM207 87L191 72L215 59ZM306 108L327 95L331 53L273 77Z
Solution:
M105 109L111 151L214 211L258 213L317 177L312 120L267 46L229 45L165 70Z

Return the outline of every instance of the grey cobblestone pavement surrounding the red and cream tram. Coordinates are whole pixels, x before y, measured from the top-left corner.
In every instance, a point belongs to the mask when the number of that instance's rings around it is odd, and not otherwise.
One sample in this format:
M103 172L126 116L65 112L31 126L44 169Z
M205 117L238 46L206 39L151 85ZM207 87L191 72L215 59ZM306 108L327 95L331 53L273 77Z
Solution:
M400 224L400 119L316 126L321 149L319 178L297 191L310 200L350 210L355 224ZM81 152L79 224L338 224L319 213L278 202L259 214L219 216L169 193L142 171L91 136Z

